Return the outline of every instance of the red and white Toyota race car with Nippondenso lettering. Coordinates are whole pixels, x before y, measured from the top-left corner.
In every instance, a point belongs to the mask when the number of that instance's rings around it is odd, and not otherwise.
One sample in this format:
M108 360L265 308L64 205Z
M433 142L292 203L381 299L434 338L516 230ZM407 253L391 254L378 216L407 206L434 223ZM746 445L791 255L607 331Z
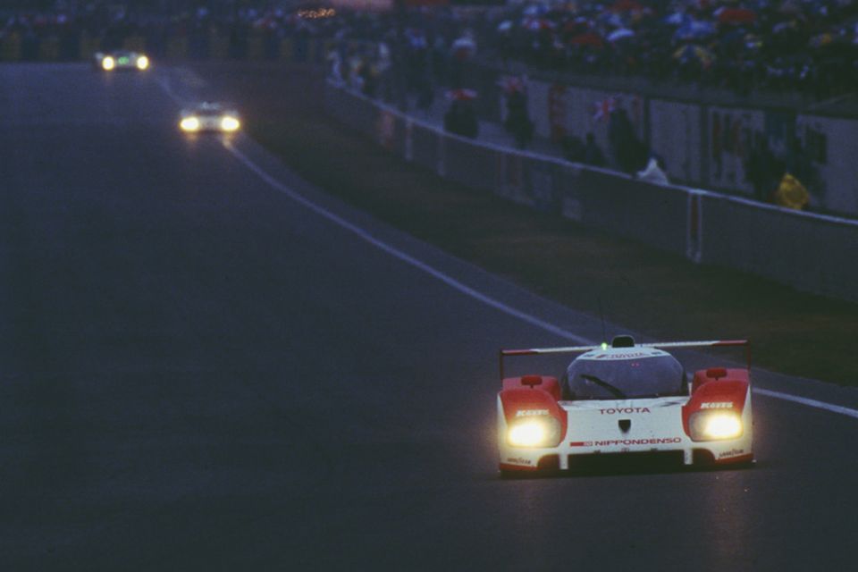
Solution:
M668 349L744 346L747 367L694 373ZM560 378L504 377L516 356L576 354ZM501 474L567 470L589 461L658 459L678 467L753 462L748 341L501 349L498 445Z

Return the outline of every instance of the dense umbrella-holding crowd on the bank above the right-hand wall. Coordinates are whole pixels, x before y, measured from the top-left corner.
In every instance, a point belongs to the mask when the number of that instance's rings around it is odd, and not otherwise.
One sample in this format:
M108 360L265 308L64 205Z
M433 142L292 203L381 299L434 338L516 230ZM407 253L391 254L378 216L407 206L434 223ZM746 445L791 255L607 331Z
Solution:
M538 67L815 97L858 80L858 6L845 0L528 4L493 23L501 57Z

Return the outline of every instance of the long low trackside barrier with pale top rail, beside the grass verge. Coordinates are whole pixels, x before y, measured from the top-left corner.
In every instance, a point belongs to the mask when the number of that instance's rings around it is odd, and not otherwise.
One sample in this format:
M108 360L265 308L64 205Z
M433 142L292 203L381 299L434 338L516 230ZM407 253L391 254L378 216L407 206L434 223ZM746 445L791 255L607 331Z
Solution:
M858 222L499 147L444 132L328 82L325 108L450 181L687 257L858 301Z

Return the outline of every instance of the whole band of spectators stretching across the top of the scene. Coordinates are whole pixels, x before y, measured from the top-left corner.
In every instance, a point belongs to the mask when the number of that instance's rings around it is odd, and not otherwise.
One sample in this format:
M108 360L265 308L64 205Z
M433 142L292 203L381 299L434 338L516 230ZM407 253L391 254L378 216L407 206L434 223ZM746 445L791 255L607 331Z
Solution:
M822 98L858 85L858 3L850 0L579 0L407 13L326 5L60 1L50 10L0 9L0 38L18 34L28 59L47 37L59 41L63 59L74 59L82 34L105 47L138 35L156 56L177 36L189 39L191 56L203 55L213 30L229 38L234 57L252 35L263 38L269 55L284 37L401 41L412 83L432 66L455 84L453 55L479 46L484 57L535 68L696 82L738 93L770 88Z

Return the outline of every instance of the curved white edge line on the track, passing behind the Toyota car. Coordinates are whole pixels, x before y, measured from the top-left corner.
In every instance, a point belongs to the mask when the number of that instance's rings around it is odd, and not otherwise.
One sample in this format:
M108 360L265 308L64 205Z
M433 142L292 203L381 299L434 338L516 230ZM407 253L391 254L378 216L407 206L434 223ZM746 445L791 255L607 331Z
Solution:
M483 302L487 306L490 306L490 307L493 307L497 310L500 310L504 314L516 317L519 320L526 322L527 324L531 324L531 325L534 325L538 328L542 328L546 332L551 332L555 335L560 336L561 338L565 338L566 340L576 341L576 343L580 343L583 345L592 345L594 343L593 341L586 340L585 338L582 338L581 336L577 336L576 334L574 334L572 332L568 332L567 330L564 330L564 329L562 329L562 328L560 328L554 324L550 324L548 322L545 322L544 320L541 320L534 315L529 315L529 314L526 314L525 312L522 312L521 310L517 310L514 307L509 307L499 300L496 300L496 299L493 299L489 296L486 296L482 292L478 292L477 290L474 290L473 288L463 284L462 282L458 282L458 280L451 278L447 274L442 273L440 270L433 268L433 266L427 265L427 264L425 264L425 262L423 262L421 260L417 260L415 257L412 257L411 255L408 255L407 253L402 252L400 249L394 248L391 245L387 244L386 242L383 242L382 240L376 239L372 234L370 234L369 232L360 228L356 224L349 223L349 221L345 220L344 218L342 218L341 216L339 216L337 214L333 214L331 211L324 208L324 206L320 206L320 205L315 204L314 202L312 202L308 198L306 198L303 195L300 195L299 193L290 189L289 187L284 185L282 182L277 181L271 175L269 175L267 172L263 171L259 166L257 166L257 164L255 164L253 161L251 161L248 158L248 156L245 156L236 147L232 146L229 141L223 141L223 147L226 147L226 149L233 156L235 156L237 159L239 159L239 161L242 164L244 164L246 167L248 167L248 169L250 171L255 172L260 179L262 179L263 181L268 183L273 189L280 191L283 195L286 195L287 197L291 198L292 200L299 203L300 205L306 206L309 210L313 211L315 214L319 214L320 216L323 216L324 218L328 219L332 223L337 224L341 228L343 228L347 231L353 232L359 238L361 238L361 239L365 240L366 242L372 244L375 248L379 248L379 249L383 250L384 252L388 253L389 255L391 255L392 257L399 258L402 262L405 262L408 265L412 265L415 268L422 270L423 272L437 278L438 280L440 280L441 282L444 282L445 284L447 284L448 286L450 286L454 290L458 290L458 291L462 292L463 294L465 294L465 295L467 295L467 296L469 296L475 300ZM854 417L854 418L858 419L858 410L856 410L856 409L845 408L845 407L842 407L839 405L833 405L831 403L825 403L824 401L809 400L807 398L798 397L795 395L790 395L789 393L781 393L780 391L763 390L763 389L760 389L757 387L753 388L753 392L758 393L758 394L763 395L763 396L766 396L766 397L774 398L776 400L792 401L794 403L798 403L798 404L801 404L801 405L804 405L804 406L807 406L810 408L824 409L826 411L829 411L830 413L837 413L839 415L850 416L850 417Z

